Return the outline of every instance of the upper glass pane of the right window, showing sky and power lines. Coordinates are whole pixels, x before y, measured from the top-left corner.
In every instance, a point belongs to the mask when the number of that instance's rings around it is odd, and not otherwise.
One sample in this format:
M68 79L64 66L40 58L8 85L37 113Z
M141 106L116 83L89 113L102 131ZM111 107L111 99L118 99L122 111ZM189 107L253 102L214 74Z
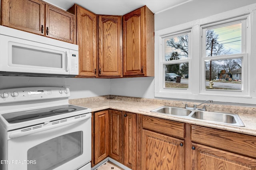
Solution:
M242 23L206 30L206 57L240 54Z

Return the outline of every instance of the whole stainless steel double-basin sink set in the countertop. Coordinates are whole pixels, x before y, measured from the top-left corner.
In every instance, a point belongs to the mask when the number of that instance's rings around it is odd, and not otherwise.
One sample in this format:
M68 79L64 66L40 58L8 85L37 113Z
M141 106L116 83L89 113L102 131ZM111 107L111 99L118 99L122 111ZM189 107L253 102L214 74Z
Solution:
M239 115L235 113L201 111L196 109L183 109L169 106L162 106L151 111L166 115L186 117L188 119L196 119L204 122L220 123L233 126L244 126L244 123L240 119Z

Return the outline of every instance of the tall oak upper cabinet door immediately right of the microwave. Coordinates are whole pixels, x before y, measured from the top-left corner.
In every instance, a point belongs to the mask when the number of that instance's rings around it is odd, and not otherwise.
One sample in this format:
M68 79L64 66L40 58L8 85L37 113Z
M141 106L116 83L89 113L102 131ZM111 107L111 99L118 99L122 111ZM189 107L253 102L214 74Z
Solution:
M97 19L96 14L77 6L77 45L79 76L96 77Z

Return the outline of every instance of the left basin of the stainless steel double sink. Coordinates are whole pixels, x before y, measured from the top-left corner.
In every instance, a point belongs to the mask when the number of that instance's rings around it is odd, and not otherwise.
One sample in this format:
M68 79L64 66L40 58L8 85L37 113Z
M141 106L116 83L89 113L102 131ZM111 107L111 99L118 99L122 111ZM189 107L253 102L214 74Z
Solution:
M188 110L188 109L169 107L169 106L162 106L151 111L156 113L163 113L163 114L176 115L176 116L188 116L192 112L191 110Z

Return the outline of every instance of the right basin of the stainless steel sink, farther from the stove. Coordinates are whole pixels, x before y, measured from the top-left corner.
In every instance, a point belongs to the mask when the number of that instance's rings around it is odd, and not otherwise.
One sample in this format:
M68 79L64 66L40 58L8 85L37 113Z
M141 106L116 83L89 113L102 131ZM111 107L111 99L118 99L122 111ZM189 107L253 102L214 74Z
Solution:
M191 117L215 123L244 126L244 123L241 121L240 117L237 114L232 113L195 111L191 114Z

